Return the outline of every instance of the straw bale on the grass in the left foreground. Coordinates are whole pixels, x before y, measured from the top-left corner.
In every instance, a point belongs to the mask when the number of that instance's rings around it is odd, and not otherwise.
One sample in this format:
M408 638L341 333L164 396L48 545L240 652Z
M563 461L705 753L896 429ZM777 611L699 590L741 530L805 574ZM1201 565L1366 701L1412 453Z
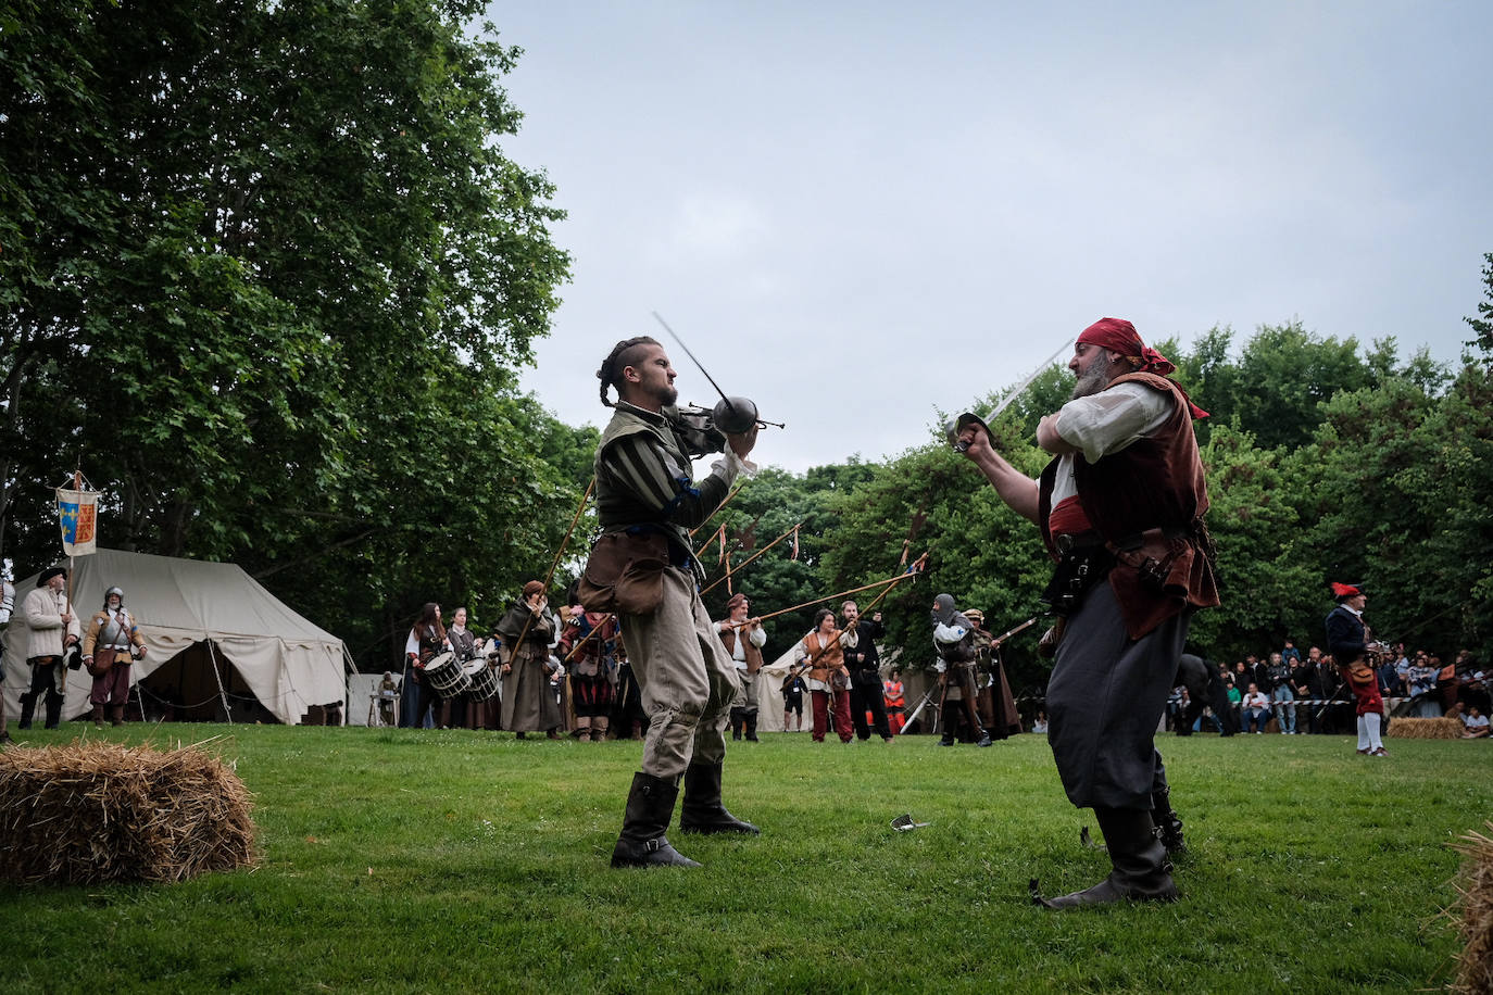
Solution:
M181 882L252 865L249 792L200 746L0 753L0 880Z

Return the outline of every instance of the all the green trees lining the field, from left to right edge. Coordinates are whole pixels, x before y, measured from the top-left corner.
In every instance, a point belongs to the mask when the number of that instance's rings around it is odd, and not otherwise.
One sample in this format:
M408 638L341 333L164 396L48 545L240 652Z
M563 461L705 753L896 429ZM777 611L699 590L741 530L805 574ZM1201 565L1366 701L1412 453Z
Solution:
M366 670L397 659L424 601L490 625L543 576L597 433L517 389L570 260L548 178L503 155L520 51L482 7L4 7L0 561L55 559L52 488L82 465L106 544L239 562ZM1197 433L1224 604L1196 619L1197 652L1309 644L1327 580L1345 579L1368 586L1380 634L1493 655L1486 261L1456 365L1299 324L1156 343L1212 413ZM1015 465L1042 467L1036 419L1069 386L1054 365L993 425ZM936 592L1002 631L1039 610L1048 576L1035 530L932 428L879 462L767 468L700 542L721 522L735 562L800 524L797 559L784 542L733 579L757 612L927 552L927 574L878 606L914 665ZM578 567L563 558L557 598ZM812 612L773 619L769 650ZM1018 686L1045 679L1033 643L1008 650Z

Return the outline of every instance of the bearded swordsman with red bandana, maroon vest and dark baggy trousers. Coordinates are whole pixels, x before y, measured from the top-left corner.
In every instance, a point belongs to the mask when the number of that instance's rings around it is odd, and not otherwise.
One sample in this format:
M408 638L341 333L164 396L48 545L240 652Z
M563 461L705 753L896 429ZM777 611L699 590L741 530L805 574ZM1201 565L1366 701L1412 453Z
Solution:
M1041 528L1056 564L1045 600L1059 616L1047 688L1048 743L1067 798L1093 807L1112 873L1050 908L1176 898L1168 850L1181 847L1156 728L1196 609L1218 604L1203 527L1208 489L1191 421L1206 416L1135 325L1094 322L1067 368L1073 398L1042 418L1053 461L1036 480L963 416L960 442L1000 498ZM1056 647L1053 641L1056 640Z

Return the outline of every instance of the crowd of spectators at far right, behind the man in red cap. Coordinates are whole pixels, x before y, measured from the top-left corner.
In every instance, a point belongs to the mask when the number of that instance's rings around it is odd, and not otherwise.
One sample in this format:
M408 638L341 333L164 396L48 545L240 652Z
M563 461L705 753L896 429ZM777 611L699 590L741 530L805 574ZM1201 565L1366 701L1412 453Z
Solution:
M1405 643L1375 643L1371 647L1380 692L1396 718L1456 716L1469 738L1489 734L1490 674L1460 650L1450 664L1424 649L1411 650ZM1214 715L1203 709L1194 731L1223 734L1278 732L1282 735L1351 732L1353 695L1330 653L1311 646L1305 655L1287 638L1284 647L1265 656L1248 655L1233 664L1217 664L1227 692L1230 713ZM1185 686L1172 692L1168 726L1176 728L1187 715L1190 695Z

